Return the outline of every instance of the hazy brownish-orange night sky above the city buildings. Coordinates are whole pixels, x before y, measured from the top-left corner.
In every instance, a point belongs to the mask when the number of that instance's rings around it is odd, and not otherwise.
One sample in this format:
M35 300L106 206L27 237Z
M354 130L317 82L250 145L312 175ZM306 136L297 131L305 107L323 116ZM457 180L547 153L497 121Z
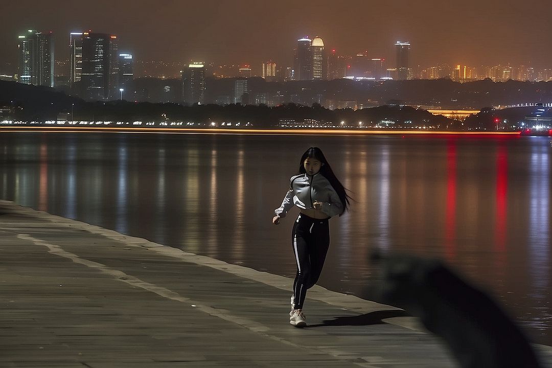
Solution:
M68 58L70 31L91 29L118 35L120 51L137 60L291 65L296 40L308 35L392 64L402 40L412 65L552 67L548 0L3 0L2 14L0 68L17 62L26 29L54 31L57 60Z

